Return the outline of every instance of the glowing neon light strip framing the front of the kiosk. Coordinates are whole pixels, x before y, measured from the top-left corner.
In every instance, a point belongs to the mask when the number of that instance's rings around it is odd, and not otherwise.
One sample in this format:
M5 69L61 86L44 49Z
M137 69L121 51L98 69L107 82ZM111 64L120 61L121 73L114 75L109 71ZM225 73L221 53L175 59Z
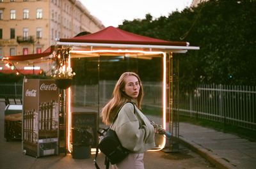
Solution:
M70 50L70 53L92 54L92 53L141 53L141 54L161 54L163 55L163 129L166 129L166 52L147 52L141 50ZM68 68L70 68L70 55L68 57ZM71 133L71 89L68 88L68 151L71 152L70 133ZM160 149L151 151L160 151L164 148L166 138L163 139Z

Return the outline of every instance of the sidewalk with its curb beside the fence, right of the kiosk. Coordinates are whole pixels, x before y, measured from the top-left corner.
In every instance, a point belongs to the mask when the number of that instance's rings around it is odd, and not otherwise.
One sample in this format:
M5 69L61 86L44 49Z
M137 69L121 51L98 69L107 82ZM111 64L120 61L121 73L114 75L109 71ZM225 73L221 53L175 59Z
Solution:
M256 168L256 142L183 122L180 141L218 168Z

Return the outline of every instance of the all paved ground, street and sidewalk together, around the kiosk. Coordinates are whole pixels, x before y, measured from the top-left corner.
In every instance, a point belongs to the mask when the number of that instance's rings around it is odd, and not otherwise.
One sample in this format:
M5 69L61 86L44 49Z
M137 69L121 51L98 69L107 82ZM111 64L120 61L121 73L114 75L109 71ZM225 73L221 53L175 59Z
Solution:
M0 102L0 168L95 168L94 155L88 159L74 159L70 154L42 158L22 154L20 141L6 142L3 138L4 107L4 103ZM104 168L102 154L99 154L97 161L100 167ZM146 169L254 169L256 143L228 133L181 122L179 152L146 152L144 161Z

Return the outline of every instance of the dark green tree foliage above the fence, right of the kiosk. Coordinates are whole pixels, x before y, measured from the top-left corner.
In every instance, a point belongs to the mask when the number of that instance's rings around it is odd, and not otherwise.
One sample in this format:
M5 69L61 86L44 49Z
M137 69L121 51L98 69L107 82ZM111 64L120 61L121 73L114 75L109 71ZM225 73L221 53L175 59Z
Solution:
M200 50L180 59L180 85L256 85L256 1L211 0L168 17L123 22L120 29L168 41L189 41Z

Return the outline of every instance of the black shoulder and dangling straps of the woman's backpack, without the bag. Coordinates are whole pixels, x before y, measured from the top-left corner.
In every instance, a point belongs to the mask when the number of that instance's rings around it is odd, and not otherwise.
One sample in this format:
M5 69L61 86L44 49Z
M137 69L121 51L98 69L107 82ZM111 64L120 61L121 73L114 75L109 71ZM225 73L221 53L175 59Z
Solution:
M131 102L131 101L127 101L127 102L124 103L124 105L125 105L126 103L132 103L132 102ZM122 105L122 107L123 107L124 105ZM134 114L135 114L135 106L134 106L134 103L132 103L132 105L133 105L133 112L134 112ZM121 110L122 107L120 107L119 110L118 110L118 112L116 113L115 118L114 118L114 120L113 120L111 126L112 126L113 123L116 121L116 118L117 118L117 116L118 116L118 114L119 114L119 112L120 112L120 110ZM109 128L111 128L111 126L110 126ZM106 131L108 131L109 128L103 129L103 130L104 130L103 133L105 133ZM99 131L98 131L98 133L99 133ZM99 135L103 135L103 133L99 133ZM97 161L96 161L98 154L99 154L99 143L98 143L98 145L97 145L95 158L93 159L93 164L95 165L96 169L100 169L100 168L99 168L99 165L97 164ZM109 169L110 161L109 161L109 159L108 159L107 156L105 157L105 162L104 162L104 164L106 165L106 169Z

